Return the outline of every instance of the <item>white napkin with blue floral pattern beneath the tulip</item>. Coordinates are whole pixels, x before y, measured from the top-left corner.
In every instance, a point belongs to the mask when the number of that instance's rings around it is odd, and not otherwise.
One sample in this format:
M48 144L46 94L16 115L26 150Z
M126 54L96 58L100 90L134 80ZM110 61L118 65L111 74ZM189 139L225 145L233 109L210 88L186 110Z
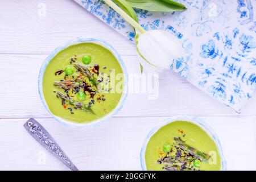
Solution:
M100 0L75 0L130 40L133 28ZM146 30L175 35L184 59L170 69L238 113L256 89L256 0L179 0L187 10L136 10Z

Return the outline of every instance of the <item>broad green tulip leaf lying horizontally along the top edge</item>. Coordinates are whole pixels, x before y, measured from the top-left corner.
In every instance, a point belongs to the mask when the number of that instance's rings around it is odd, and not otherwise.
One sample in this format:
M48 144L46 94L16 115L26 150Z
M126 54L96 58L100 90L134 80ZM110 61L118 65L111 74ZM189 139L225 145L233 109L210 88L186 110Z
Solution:
M186 9L181 3L172 0L126 0L132 7L147 11L172 12Z

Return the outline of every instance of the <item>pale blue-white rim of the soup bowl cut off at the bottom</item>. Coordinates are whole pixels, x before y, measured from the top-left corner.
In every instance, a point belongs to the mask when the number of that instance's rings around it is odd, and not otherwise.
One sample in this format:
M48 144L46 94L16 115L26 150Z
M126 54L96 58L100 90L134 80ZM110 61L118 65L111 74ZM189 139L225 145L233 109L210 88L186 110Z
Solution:
M225 160L223 152L222 152L220 141L218 140L217 135L210 128L210 126L208 126L205 122L201 121L201 119L199 119L197 117L187 116L187 115L177 115L176 117L168 118L168 119L165 119L163 122L160 122L158 125L156 125L154 127L154 129L152 129L150 131L150 133L148 133L148 135L147 135L147 137L146 137L146 139L144 141L144 144L142 146L142 149L141 149L141 168L142 168L143 171L147 170L146 161L145 161L145 152L146 152L147 143L149 142L150 138L160 128L162 128L163 126L166 126L167 124L169 124L171 122L175 122L175 121L188 121L188 122L192 122L195 125L201 127L201 129L203 129L204 131L206 131L207 134L214 140L214 142L217 145L218 153L220 154L220 158L221 158L221 171L225 171L226 170L226 160Z

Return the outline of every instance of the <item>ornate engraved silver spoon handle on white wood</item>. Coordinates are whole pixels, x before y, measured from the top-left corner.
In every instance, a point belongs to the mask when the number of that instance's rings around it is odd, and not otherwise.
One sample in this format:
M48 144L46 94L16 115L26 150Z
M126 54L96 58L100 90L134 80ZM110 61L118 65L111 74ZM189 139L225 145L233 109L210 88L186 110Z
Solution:
M28 119L24 123L25 129L35 138L44 148L50 151L56 158L60 159L72 171L79 171L75 164L71 162L67 155L61 150L60 146L55 142L46 129L35 119Z

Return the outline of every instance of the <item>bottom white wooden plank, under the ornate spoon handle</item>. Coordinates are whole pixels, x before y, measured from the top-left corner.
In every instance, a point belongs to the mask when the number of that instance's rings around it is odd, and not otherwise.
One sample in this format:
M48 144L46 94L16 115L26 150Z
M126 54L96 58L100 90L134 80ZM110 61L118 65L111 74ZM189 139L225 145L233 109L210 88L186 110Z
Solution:
M229 170L255 170L256 117L200 117L216 131ZM165 117L112 118L93 129L37 119L81 170L140 170L147 133ZM23 119L0 119L0 169L66 170L23 129ZM46 163L42 163L45 155ZM242 160L241 160L242 159Z

